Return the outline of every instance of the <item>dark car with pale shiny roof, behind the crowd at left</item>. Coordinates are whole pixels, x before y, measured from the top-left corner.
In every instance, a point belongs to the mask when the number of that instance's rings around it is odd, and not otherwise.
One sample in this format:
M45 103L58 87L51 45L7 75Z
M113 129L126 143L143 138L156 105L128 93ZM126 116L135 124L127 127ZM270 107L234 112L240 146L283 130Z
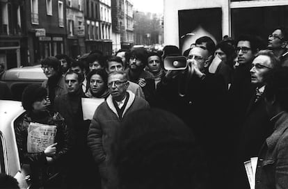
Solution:
M32 83L41 85L46 79L41 65L8 69L1 76L1 81L7 83L14 100L22 99L22 92L27 85Z

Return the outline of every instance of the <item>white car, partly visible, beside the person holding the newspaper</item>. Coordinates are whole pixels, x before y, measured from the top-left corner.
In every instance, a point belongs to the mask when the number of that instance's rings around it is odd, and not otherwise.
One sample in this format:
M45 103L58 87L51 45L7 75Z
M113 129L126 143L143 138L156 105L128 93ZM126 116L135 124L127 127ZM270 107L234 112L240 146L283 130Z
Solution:
M0 172L14 176L20 188L29 188L30 167L19 161L14 130L24 113L20 101L0 100Z

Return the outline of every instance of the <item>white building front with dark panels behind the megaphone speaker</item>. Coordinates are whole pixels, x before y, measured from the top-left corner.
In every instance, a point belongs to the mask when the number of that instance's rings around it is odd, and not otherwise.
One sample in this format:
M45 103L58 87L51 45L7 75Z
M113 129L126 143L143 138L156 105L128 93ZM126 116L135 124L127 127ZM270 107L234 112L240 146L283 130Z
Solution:
M250 33L267 40L276 27L288 26L287 12L287 0L164 0L164 43L184 51L202 35L218 41Z

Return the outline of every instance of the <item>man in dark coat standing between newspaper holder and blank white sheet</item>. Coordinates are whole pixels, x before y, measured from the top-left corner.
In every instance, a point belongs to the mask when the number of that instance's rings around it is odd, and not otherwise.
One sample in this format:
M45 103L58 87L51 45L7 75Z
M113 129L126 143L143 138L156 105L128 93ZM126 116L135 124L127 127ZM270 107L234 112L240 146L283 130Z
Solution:
M84 94L81 88L82 82L83 74L78 74L72 70L68 71L65 74L65 85L68 92L57 97L54 102L54 110L64 117L72 139L72 147L67 163L68 188L93 188L97 187L100 182L99 176L97 176L97 166L87 146L90 121L83 120L81 98L84 97ZM75 164L75 162L78 163Z

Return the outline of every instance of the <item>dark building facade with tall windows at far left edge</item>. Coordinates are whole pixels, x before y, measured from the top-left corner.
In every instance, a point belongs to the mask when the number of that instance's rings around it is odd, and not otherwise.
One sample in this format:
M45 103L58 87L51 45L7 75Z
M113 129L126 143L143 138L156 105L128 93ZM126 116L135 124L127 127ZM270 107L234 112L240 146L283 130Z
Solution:
M24 8L24 0L0 0L0 63L5 69L27 64Z

